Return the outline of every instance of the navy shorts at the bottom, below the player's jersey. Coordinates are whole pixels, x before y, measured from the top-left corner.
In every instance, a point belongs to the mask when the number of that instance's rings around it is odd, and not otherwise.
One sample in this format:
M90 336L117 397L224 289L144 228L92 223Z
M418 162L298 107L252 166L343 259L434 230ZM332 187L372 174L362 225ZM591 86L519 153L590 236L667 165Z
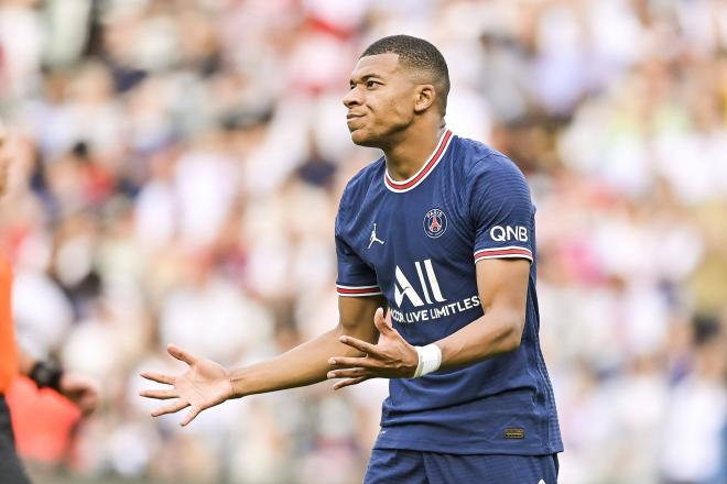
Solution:
M557 454L458 455L377 450L365 484L556 484Z

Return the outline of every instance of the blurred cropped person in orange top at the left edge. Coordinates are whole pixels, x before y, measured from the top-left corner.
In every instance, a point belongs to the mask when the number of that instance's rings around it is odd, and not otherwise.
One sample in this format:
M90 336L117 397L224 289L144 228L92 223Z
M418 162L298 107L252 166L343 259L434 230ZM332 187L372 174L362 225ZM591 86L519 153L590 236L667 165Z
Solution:
M0 196L4 194L10 157L7 155L6 133L0 124ZM30 376L39 387L50 387L75 403L84 414L98 405L96 382L83 376L64 373L57 365L36 361L15 344L11 310L12 267L0 255L0 482L3 484L30 483L15 452L10 422L10 410L4 399L13 377L21 373Z

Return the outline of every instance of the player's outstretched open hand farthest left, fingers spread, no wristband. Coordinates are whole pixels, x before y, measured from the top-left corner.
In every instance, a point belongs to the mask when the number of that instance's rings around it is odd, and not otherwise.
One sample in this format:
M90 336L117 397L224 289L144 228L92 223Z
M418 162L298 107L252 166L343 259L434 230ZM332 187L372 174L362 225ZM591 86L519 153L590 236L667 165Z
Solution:
M202 410L219 405L234 396L228 372L220 364L205 358L194 356L174 344L170 344L166 351L189 367L177 376L141 372L141 376L147 380L172 385L172 388L145 389L139 394L142 397L160 400L174 398L171 404L152 411L152 417L174 414L191 407L182 421L182 426L186 426Z

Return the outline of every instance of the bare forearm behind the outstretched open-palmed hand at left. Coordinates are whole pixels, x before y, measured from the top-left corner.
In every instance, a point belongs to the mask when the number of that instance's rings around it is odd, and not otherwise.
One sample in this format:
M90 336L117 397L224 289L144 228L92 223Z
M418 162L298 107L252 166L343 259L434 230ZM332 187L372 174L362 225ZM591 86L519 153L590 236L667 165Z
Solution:
M343 334L362 337L338 326L278 358L232 371L230 378L235 397L323 382L326 380L327 372L330 371L329 358L360 355L356 350L338 341ZM368 340L370 337L366 339Z

